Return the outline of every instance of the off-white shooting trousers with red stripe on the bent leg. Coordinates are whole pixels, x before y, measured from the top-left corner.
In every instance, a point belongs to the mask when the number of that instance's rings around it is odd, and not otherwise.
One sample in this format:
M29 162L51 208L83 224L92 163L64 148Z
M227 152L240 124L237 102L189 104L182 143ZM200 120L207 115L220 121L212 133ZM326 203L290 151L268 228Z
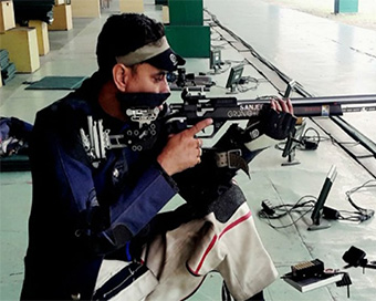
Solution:
M112 300L182 300L210 271L222 276L236 300L246 300L278 276L247 203L226 222L209 214L157 236L142 259L149 270ZM104 260L96 288L125 264Z

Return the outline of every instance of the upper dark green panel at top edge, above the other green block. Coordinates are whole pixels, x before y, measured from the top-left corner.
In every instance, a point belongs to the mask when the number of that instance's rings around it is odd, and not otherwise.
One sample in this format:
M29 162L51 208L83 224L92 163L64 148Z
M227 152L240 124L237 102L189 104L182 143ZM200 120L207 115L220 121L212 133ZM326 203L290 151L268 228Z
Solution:
M202 25L202 0L168 0L171 25Z

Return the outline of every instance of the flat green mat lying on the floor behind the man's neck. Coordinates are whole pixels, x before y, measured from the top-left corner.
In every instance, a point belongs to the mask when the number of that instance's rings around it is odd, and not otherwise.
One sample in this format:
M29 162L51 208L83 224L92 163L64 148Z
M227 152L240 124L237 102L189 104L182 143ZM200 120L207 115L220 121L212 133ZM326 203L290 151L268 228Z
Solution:
M25 90L76 90L86 76L45 76Z

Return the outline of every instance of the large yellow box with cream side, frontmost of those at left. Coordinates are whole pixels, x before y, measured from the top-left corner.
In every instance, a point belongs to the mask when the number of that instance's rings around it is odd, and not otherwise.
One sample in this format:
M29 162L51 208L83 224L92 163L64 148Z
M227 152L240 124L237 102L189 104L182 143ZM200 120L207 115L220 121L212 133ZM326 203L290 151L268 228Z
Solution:
M0 48L8 50L18 72L32 73L40 68L36 29L21 27L1 33Z

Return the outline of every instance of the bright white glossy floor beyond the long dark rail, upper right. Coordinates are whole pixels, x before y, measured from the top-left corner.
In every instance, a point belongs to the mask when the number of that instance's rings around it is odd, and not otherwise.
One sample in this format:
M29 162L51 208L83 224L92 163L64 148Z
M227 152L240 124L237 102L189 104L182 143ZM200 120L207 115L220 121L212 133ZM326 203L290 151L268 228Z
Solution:
M366 4L372 6L366 2L359 8L366 10ZM376 93L375 30L278 7L270 1L206 0L205 6L222 25L279 71L302 84L311 95ZM320 10L316 6L312 9ZM375 4L368 8L369 11L375 9ZM376 113L370 112L345 114L343 118L376 142L375 116ZM363 164L376 170L373 162L363 160Z

